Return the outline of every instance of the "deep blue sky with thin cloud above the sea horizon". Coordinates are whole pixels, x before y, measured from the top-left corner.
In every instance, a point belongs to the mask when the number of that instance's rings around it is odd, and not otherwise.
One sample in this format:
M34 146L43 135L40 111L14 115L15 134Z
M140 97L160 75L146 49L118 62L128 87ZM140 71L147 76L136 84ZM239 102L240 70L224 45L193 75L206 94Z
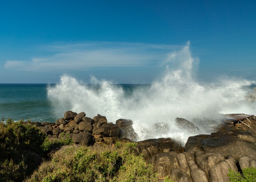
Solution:
M0 1L0 83L151 83L190 45L197 77L256 80L256 1Z

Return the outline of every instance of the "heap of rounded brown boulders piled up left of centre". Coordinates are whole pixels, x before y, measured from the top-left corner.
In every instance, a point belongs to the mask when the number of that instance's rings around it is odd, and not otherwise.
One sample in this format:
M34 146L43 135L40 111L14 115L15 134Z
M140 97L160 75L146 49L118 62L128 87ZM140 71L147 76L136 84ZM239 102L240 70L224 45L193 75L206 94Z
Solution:
M35 123L46 133L50 140L56 140L69 135L77 144L91 145L95 142L115 143L120 138L135 139L136 134L132 128L132 120L118 119L116 124L108 123L105 116L98 114L92 118L85 117L84 112L67 111L63 118L56 123ZM129 136L128 136L129 135Z

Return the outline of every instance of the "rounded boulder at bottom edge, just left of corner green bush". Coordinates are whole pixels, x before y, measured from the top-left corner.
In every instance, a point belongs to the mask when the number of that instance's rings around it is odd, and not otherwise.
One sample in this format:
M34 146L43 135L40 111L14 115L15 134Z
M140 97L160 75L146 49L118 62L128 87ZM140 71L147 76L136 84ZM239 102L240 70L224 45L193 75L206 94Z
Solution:
M229 165L221 161L209 170L210 182L228 182Z

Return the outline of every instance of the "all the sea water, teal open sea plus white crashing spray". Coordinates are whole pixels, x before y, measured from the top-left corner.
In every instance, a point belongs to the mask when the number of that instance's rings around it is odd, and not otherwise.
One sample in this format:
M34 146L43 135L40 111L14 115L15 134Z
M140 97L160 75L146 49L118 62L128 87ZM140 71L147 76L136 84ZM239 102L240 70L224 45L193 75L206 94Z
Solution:
M138 140L171 137L185 144L189 136L214 131L222 113L256 114L256 102L248 98L255 82L228 77L199 82L198 60L189 45L170 53L164 64L165 71L151 84L117 84L93 75L89 83L62 75L57 84L1 84L1 116L55 122L67 110L90 118L100 114L113 123L131 119ZM182 130L177 117L201 132Z

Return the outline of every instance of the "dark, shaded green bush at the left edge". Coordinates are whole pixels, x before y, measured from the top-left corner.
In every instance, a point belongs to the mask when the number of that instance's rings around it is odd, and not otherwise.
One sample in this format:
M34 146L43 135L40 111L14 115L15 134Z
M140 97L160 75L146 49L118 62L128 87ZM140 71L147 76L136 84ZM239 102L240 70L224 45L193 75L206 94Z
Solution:
M23 181L36 170L37 165L30 157L31 152L46 156L53 148L73 143L72 139L49 141L31 122L13 122L4 118L0 122L0 182ZM29 154L30 153L30 154Z

